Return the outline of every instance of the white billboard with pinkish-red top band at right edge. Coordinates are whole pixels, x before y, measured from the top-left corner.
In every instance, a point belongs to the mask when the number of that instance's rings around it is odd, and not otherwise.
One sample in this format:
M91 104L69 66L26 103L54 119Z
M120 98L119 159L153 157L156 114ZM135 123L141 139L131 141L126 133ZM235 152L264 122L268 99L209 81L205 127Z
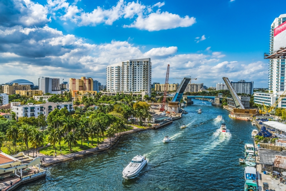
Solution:
M286 47L286 22L282 23L274 29L274 52L279 50L281 47Z

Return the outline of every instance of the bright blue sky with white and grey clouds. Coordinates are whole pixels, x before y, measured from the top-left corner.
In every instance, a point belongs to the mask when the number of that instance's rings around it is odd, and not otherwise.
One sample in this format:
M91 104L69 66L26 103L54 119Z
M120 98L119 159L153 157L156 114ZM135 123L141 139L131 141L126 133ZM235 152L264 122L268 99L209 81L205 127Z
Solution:
M106 66L151 58L152 83L179 77L215 86L254 81L267 87L270 25L286 1L0 0L0 84L39 76L91 77Z

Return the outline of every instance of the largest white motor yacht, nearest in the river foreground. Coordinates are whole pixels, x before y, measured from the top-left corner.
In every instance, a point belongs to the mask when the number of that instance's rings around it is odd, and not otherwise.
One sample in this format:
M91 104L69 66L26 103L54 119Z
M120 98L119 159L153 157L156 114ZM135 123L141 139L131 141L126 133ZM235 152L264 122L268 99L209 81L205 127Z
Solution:
M131 162L123 169L123 177L129 178L138 174L142 168L147 164L146 157L137 155Z

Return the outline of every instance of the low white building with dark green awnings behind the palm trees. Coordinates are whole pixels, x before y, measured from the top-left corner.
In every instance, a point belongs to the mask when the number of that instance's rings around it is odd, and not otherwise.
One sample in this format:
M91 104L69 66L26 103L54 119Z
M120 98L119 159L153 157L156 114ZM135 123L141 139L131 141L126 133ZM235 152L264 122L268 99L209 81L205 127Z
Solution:
M28 103L28 105L21 105L20 102L11 102L11 110L16 113L16 118L18 120L19 117L38 117L40 114L47 117L49 113L56 108L59 110L66 108L69 112L71 112L74 110L72 104L72 102L47 102L43 104Z

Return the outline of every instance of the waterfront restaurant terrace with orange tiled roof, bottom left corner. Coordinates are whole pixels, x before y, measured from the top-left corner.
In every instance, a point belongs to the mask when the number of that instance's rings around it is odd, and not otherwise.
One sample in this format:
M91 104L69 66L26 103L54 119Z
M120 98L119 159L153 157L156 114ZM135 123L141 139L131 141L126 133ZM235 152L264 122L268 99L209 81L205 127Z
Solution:
M0 190L13 190L22 183L45 177L46 170L40 163L40 157L23 152L13 156L0 152Z

